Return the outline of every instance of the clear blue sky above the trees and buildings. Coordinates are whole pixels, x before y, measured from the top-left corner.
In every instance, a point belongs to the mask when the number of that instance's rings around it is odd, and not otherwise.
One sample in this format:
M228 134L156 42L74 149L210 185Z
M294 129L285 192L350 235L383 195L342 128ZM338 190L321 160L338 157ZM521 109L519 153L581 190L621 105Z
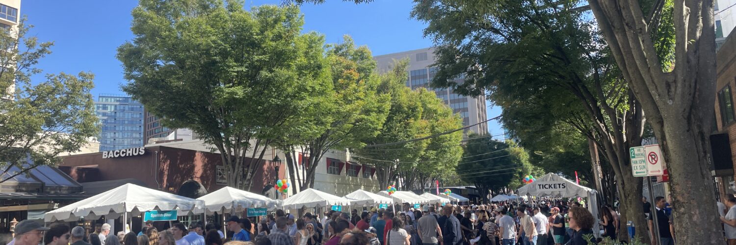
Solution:
M246 1L249 8L279 3L280 0ZM115 58L116 48L133 38L130 11L137 4L133 0L22 1L21 15L27 15L28 23L35 26L30 34L41 41L54 41L53 53L40 60L38 68L44 74L91 71L96 76L94 96L122 93L120 85L126 81L121 63ZM376 0L359 5L342 0L304 4L304 30L324 34L328 43L350 35L356 44L367 45L374 55L432 46L431 40L422 36L426 24L409 16L412 6L409 0ZM487 114L498 116L500 108L489 108ZM489 124L489 130L491 134L502 133L495 121Z

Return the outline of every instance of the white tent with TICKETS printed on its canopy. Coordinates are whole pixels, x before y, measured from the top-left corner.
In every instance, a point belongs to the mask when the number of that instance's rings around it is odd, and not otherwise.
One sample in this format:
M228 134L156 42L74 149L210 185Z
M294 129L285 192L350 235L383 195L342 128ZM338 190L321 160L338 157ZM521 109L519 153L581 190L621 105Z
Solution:
M557 196L564 198L576 196L587 197L588 210L590 210L593 217L598 219L598 192L591 188L578 185L575 182L560 177L557 174L549 173L537 178L534 182L519 188L519 194L528 196ZM599 232L595 232L598 230L600 230L598 227L598 221L595 221L595 224L593 224L593 234L595 234L596 237L600 235Z

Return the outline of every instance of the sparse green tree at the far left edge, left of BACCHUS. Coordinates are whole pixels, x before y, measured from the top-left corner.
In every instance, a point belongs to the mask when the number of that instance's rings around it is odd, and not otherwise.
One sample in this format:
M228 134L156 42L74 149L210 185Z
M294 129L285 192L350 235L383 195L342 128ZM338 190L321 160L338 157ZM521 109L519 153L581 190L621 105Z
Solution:
M28 36L22 18L0 32L0 182L33 168L55 165L62 152L77 152L99 134L90 90L94 75L46 74L35 65L51 54L52 42Z

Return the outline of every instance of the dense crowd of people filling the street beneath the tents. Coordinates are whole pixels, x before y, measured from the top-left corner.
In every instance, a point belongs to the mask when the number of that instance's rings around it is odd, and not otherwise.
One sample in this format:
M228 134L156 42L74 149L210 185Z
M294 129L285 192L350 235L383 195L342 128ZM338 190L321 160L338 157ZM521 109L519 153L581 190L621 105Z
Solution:
M304 213L297 219L276 210L258 223L230 216L226 232L216 224L200 222L171 224L158 230L152 222L137 234L110 232L110 224L97 224L86 234L83 227L55 223L40 227L21 221L10 245L37 245L43 234L48 245L587 245L595 218L578 202L500 202L489 205L425 205L414 210L404 204L397 211L367 207L350 213L326 211ZM604 235L615 238L618 214L604 208ZM255 224L255 225L254 225ZM46 232L41 233L41 231ZM38 234L35 231L39 231ZM589 235L590 234L590 235ZM38 238L38 241L34 239ZM35 241L35 242L34 242Z

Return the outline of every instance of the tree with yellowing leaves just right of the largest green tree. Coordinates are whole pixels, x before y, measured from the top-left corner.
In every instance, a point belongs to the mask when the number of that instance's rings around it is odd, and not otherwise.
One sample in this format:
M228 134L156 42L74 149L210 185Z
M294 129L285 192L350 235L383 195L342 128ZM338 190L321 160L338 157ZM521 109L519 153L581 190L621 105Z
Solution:
M328 150L363 147L364 141L378 134L389 110L390 96L378 94L381 79L367 46L356 47L345 36L342 43L328 46L326 56L332 85L307 115L319 134L295 132L280 141L287 152L291 182L298 183L300 190L314 187L316 167ZM305 156L302 164L308 167L299 167L296 149Z

